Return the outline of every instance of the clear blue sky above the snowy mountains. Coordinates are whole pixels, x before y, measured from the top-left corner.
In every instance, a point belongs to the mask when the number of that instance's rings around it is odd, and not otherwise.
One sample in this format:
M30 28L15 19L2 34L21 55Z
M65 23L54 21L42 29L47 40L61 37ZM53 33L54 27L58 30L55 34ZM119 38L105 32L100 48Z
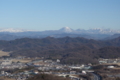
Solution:
M120 29L120 0L0 0L0 28Z

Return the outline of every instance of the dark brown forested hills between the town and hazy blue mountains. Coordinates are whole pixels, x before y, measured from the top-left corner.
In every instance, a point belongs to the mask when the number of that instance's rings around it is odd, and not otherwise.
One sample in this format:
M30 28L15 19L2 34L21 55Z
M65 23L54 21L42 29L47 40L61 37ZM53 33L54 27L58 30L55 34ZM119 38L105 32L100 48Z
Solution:
M12 41L0 41L0 49L12 51L11 56L43 56L49 59L61 59L62 63L96 63L98 58L116 58L120 56L119 47L120 37L107 41L80 37L22 38Z

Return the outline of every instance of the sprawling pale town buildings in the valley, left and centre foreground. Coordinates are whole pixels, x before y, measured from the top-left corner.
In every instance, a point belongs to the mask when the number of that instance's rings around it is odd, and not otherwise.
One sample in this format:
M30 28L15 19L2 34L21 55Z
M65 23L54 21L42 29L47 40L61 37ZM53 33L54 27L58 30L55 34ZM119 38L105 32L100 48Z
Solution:
M18 59L25 59L25 58L19 57ZM33 69L24 70L18 73L10 73L4 71L9 69L21 70L23 68L29 68L29 67L33 67ZM69 75L69 77L71 77L72 79L80 80L78 77L73 75L86 75L85 70L88 70L90 68L91 68L90 65L63 65L60 64L59 59L57 59L56 61L35 59L28 63L22 63L22 62L13 62L11 58L11 59L3 59L2 61L0 61L0 70L1 70L0 76L7 76L9 78L14 78L16 80L26 80L28 77L31 77L31 75L44 73L44 74L53 74L64 77ZM81 70L81 72L75 71L76 69Z

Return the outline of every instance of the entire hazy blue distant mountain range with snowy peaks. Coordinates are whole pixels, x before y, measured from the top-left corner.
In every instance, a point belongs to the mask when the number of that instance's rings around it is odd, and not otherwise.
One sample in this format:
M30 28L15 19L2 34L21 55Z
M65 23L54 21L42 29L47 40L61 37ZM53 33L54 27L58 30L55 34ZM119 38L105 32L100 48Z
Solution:
M115 36L114 36L115 34ZM120 36L119 30L111 29L77 29L73 30L69 27L63 27L59 30L48 31L30 31L22 29L0 29L0 40L14 40L17 38L45 38L45 37L84 37L88 39L113 39Z

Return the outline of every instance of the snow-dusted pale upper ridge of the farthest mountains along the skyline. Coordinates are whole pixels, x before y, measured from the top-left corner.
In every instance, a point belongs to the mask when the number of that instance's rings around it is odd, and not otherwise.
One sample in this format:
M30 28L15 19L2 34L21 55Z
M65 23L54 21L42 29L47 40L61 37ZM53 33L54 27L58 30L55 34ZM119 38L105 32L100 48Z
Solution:
M0 29L0 32L10 32L10 33L19 33L19 32L41 32L41 31L30 31L30 30L23 30L23 29ZM43 34L59 34L59 33L74 33L74 34L117 34L120 33L120 30L112 30L112 29L101 29L101 28L94 28L94 29L77 29L73 30L69 27L63 27L59 30L49 30L49 31L42 31Z

